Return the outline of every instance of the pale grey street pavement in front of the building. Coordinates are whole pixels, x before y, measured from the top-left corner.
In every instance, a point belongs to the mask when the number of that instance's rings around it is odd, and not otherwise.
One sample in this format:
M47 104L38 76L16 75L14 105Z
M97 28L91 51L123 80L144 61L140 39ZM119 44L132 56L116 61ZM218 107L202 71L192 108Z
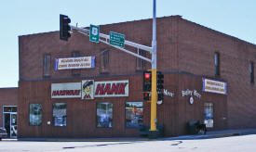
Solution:
M111 152L254 152L256 134L211 139L123 141L122 142L31 142L1 141L2 152L39 151L111 151Z

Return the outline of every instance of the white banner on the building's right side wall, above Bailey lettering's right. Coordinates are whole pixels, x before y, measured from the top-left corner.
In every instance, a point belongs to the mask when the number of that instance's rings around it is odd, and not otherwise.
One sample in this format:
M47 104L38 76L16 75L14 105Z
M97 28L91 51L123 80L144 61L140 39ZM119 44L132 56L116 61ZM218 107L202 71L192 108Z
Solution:
M227 95L226 82L212 81L205 78L203 78L202 81L203 81L203 92Z

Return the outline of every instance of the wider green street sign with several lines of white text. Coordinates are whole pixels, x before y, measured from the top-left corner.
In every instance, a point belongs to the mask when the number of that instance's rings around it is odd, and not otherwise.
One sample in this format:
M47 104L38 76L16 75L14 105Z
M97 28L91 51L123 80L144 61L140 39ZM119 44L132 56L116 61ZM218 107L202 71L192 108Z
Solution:
M117 32L110 32L109 44L125 47L125 35Z

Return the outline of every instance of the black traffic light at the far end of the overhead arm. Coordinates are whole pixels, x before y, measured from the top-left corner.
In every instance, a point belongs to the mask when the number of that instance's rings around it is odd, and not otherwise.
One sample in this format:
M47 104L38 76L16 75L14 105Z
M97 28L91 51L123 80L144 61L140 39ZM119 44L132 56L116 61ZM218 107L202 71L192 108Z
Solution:
M71 37L70 31L71 27L69 23L71 19L68 16L60 14L60 39L64 41L68 41L68 38Z

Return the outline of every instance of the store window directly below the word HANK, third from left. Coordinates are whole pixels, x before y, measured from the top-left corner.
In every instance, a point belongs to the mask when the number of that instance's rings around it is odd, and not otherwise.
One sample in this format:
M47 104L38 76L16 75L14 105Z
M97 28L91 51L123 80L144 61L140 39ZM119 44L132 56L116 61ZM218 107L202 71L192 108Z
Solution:
M113 104L97 103L97 127L111 128L113 120Z

